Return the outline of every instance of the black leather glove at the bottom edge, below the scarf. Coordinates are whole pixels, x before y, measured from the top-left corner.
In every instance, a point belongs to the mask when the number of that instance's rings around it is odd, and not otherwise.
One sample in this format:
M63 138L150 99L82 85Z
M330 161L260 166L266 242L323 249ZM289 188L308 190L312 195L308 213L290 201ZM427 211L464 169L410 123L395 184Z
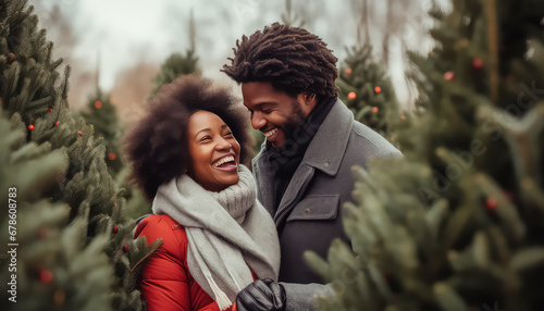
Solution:
M236 297L236 311L284 311L285 289L270 278L257 279Z

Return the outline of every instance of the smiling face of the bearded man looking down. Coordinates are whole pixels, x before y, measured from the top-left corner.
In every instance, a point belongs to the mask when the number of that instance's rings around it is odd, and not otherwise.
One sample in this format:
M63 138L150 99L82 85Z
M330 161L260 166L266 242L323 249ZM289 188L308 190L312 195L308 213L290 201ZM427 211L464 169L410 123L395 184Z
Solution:
M317 104L316 96L299 94L293 98L275 90L271 83L244 83L242 94L244 105L251 112L251 126L259 129L276 149L293 136L296 125Z

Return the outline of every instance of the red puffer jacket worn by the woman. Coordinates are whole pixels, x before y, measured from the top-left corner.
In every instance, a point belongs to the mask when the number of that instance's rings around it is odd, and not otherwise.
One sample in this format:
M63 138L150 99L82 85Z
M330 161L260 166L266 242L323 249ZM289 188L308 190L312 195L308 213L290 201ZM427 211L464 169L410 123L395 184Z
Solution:
M190 275L183 226L169 215L151 215L139 223L135 236L146 236L148 244L162 238L162 245L144 263L141 274L140 290L148 311L220 310ZM236 307L226 310L235 311Z

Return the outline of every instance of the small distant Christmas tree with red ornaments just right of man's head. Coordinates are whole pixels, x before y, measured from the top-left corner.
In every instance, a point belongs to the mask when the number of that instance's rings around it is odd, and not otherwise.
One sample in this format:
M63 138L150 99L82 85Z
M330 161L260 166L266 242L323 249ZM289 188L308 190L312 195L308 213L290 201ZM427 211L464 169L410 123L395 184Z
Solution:
M370 45L348 50L336 85L342 101L351 110L355 120L394 140L395 130L392 127L399 120L405 120L406 115L400 113L395 90L385 71L373 61Z

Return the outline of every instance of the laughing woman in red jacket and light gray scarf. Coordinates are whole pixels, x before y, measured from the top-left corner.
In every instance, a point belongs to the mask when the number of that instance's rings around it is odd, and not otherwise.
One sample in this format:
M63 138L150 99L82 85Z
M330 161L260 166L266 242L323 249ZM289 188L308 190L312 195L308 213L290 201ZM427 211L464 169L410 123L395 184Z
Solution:
M277 279L280 247L256 197L244 111L228 91L177 78L127 136L132 179L152 198L137 236L161 247L145 262L148 310L234 310L256 278Z

